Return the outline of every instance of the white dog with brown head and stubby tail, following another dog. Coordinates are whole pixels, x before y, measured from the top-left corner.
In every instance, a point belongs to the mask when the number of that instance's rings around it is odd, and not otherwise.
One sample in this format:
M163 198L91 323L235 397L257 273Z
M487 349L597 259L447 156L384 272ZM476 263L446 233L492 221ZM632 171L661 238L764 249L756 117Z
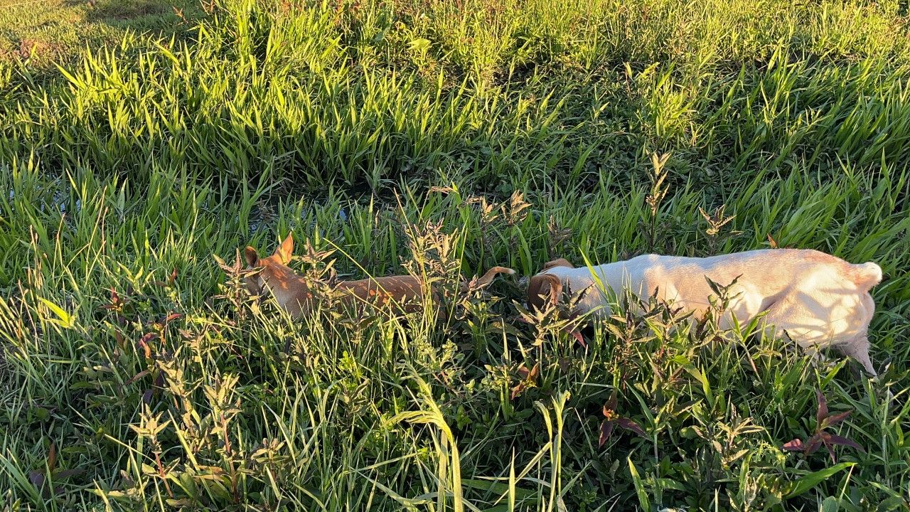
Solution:
M722 286L737 280L721 328L730 327L731 315L747 323L766 312L765 321L776 328L776 335L785 333L808 349L834 346L875 375L866 331L875 312L869 290L882 281L882 269L824 252L772 249L710 258L648 254L580 268L554 260L531 277L528 304L541 308L547 300L556 303L565 287L576 297L583 293L577 297L576 312L605 317L610 315L605 290L628 289L640 298L656 292L658 300L700 314L715 295L705 278Z

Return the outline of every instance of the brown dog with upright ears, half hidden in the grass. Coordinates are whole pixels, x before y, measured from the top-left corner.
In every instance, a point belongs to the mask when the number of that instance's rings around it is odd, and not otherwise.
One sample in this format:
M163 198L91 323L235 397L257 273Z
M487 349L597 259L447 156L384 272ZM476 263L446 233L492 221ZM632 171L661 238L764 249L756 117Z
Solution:
M252 247L244 249L249 272L244 278L247 290L255 295L268 290L275 301L292 317L299 318L312 310L314 306L314 293L308 282L288 267L291 254L294 251L294 239L288 238L281 242L275 253L268 258L259 258ZM515 271L505 267L493 267L483 274L475 288L483 288L490 284L498 274L513 274ZM462 283L462 291L468 288L468 282ZM393 275L361 279L358 281L344 281L336 284L340 293L340 300L344 305L368 303L384 307L391 303L398 312L417 312L423 308L423 286L419 279L411 275ZM440 304L441 296L437 291L430 294L431 300Z

